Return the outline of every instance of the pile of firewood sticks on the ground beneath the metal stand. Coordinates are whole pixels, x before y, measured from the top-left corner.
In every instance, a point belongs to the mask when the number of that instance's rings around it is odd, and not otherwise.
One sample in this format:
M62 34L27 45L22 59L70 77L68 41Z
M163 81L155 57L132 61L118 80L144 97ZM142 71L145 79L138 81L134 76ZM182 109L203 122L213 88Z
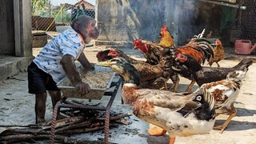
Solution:
M77 143L77 140L70 138L72 134L88 133L95 130L103 130L105 126L105 112L100 110L61 110L66 118L57 121L55 129L55 141L61 143ZM110 128L117 127L122 123L127 125L125 117L131 114L110 114ZM104 135L102 133L102 135ZM24 142L50 139L49 126L1 126L0 142Z

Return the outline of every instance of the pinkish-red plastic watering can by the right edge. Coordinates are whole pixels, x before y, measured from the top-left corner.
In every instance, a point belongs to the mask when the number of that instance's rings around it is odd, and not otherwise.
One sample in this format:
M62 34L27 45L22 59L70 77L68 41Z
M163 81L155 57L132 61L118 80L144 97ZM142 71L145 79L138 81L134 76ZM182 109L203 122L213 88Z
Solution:
M251 48L250 40L235 40L234 53L235 54L251 54L254 48Z

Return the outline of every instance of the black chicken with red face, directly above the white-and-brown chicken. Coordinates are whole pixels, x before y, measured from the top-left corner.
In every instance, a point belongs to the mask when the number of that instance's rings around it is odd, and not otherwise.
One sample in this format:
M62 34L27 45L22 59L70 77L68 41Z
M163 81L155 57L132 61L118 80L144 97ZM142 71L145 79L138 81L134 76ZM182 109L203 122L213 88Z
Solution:
M176 67L173 66L173 69L180 70L183 68L182 65L186 66L190 71L190 74L193 75L195 82L198 86L202 86L204 83L216 82L226 78L226 75L230 71L234 70L243 70L244 67L249 67L253 60L251 58L243 58L238 65L233 67L208 67L201 66L193 57L188 54L177 54L177 63Z

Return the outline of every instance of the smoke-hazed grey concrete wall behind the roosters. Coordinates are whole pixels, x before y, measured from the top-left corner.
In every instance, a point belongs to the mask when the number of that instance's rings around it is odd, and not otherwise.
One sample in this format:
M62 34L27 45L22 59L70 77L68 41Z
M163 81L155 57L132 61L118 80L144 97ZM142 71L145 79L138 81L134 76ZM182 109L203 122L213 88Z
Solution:
M162 25L169 27L176 45L185 44L206 28L218 29L216 5L197 0L100 0L99 41L158 41ZM215 14L215 15L214 15ZM216 18L218 18L216 20Z

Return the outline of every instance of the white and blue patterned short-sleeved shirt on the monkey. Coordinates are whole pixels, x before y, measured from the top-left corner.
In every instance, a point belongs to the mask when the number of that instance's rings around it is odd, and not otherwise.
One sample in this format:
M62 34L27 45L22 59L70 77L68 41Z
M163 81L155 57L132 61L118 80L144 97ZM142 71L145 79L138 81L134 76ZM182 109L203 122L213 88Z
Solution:
M33 61L57 83L66 76L60 63L62 57L70 54L78 59L84 48L82 36L70 27L48 42Z

